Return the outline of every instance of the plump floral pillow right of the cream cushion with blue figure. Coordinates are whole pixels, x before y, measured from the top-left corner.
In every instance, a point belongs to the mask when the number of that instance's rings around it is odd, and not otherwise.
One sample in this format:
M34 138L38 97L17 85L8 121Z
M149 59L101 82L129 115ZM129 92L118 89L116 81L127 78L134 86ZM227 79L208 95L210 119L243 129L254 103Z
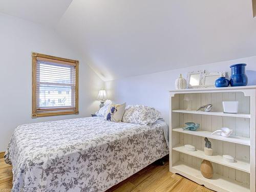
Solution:
M161 116L155 108L144 105L127 105L123 114L123 122L137 124L152 124Z

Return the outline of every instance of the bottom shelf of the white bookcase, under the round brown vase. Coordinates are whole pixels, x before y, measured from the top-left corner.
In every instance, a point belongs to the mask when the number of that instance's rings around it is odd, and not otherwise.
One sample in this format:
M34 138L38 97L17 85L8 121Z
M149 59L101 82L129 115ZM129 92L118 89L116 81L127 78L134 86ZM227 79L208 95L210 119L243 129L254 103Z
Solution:
M214 174L211 179L204 178L197 167L189 165L187 163L178 161L171 168L171 172L178 173L190 180L197 182L200 185L204 185L207 188L216 191L250 191L250 186L244 183L223 177L218 174Z

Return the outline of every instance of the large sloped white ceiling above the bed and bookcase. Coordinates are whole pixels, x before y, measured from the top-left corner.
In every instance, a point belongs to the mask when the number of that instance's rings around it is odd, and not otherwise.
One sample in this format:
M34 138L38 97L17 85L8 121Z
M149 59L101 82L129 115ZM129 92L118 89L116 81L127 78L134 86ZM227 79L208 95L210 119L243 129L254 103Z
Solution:
M55 28L112 80L256 55L252 15L251 0L73 0Z

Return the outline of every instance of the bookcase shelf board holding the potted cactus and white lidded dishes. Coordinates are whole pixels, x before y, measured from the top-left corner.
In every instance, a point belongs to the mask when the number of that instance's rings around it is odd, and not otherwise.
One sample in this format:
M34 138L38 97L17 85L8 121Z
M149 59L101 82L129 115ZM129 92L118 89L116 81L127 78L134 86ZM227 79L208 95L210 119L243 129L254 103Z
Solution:
M246 161L235 160L234 163L229 163L223 159L222 155L218 155L218 154L214 153L214 154L212 154L212 156L207 156L204 154L204 151L202 151L202 150L196 150L194 152L187 151L185 149L184 145L182 145L182 144L176 145L175 147L173 147L173 150L177 151L177 152L184 153L184 154L188 154L188 155L191 155L194 157L198 157L201 159L206 159L208 161L218 163L221 165L225 165L225 166L228 166L231 168L242 170L243 172L250 173L250 163L246 162Z

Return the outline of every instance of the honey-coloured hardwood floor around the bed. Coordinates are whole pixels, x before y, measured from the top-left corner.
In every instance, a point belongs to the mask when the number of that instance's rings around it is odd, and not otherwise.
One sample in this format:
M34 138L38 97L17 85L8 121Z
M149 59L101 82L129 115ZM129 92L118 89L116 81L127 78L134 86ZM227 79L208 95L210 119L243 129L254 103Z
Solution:
M0 191L11 191L12 188L12 166L6 164L4 158L0 159ZM4 189L4 190L1 190ZM180 175L169 172L169 164L159 165L155 162L148 165L140 172L128 179L113 186L108 192L167 192L167 191L187 191L187 192L210 192L204 186L183 178Z

